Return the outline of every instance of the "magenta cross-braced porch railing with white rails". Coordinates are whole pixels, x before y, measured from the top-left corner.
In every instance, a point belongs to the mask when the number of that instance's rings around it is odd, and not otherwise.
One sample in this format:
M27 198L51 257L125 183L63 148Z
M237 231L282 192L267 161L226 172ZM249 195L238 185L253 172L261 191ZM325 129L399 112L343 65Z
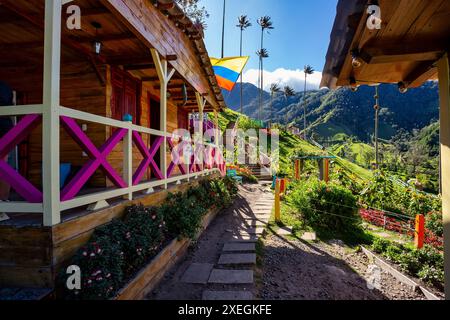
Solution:
M164 136L164 133L151 130L144 127L132 125L122 121L116 121L96 115L90 115L77 110L61 107L60 124L68 135L81 147L89 157L89 160L75 174L75 176L62 188L61 203L62 210L86 205L95 201L107 200L109 198L132 194L133 192L145 190L158 185L164 185L178 179L190 179L204 172L211 173L218 170L224 175L225 163L222 153L218 147L211 144L191 143L185 140L176 142L179 138ZM97 148L87 134L83 131L77 120L104 124L106 126L116 127L111 137L100 147ZM6 135L0 138L0 179L6 181L26 202L39 204L43 201L42 191L34 186L25 177L21 176L14 168L9 166L5 157L42 122L40 114L29 114L23 116L17 125ZM131 134L130 134L131 132ZM143 135L156 136L151 146L144 142ZM122 177L109 162L108 156L113 150L124 142L125 138L132 139L132 146L136 146L143 159L132 175L130 181ZM167 167L167 179L159 167L159 161L155 160L158 151L161 151L164 139L167 139L168 151L174 156ZM126 145L124 143L124 145ZM189 154L185 154L186 151ZM130 151L130 150L129 150ZM126 151L124 150L124 154ZM132 155L132 152L130 151ZM133 157L133 156L131 156ZM135 159L131 159L133 162ZM159 159L158 159L159 160ZM131 165L131 164L130 164ZM176 168L179 169L180 176L175 176ZM96 195L83 195L83 200L79 200L79 194L85 188L88 181L94 173L101 169L105 176L113 183L117 191L105 191ZM151 170L156 177L156 181L142 182L148 170ZM125 173L124 173L125 174ZM174 180L175 179L175 180Z

